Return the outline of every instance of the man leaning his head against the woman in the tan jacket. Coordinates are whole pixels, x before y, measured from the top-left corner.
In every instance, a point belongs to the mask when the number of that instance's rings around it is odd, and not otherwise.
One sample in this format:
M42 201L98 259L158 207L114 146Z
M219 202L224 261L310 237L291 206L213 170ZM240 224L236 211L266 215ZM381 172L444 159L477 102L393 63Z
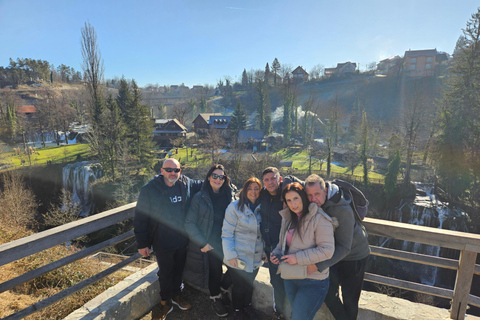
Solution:
M331 259L316 264L320 271L330 268L330 287L325 304L337 320L357 319L358 300L370 255L367 231L355 218L350 195L336 184L325 183L318 175L312 174L305 180L305 191L310 202L338 220L334 233L335 252ZM312 266L308 266L308 272L314 271L310 269ZM342 287L343 303L339 297L339 286Z

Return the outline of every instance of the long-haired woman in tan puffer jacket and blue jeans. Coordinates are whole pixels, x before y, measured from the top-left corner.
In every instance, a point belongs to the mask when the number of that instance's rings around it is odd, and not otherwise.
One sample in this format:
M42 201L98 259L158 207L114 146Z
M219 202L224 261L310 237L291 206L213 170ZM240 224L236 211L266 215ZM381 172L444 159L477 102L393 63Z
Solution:
M283 274L282 278L292 306L292 320L313 319L328 291L328 268L310 275L306 275L306 268L332 257L333 221L315 203L309 204L305 190L297 182L285 186L282 199L288 208L279 212L282 216L280 241L270 261L301 266L303 270L299 274L303 273L304 278L286 279ZM279 270L282 272L282 266Z

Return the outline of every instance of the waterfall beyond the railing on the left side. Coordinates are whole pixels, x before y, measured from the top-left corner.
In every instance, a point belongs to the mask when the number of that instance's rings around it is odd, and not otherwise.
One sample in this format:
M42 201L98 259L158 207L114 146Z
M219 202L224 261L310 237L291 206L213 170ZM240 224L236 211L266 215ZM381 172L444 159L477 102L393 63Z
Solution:
M102 177L99 163L82 161L63 167L63 189L72 194L72 202L82 209L80 216L86 217L93 212L93 192L90 185Z

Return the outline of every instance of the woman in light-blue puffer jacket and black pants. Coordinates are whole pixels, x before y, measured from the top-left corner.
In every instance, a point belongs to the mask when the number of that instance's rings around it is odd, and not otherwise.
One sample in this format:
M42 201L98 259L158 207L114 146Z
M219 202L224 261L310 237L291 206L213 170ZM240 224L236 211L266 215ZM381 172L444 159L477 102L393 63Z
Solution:
M245 182L240 199L230 203L222 228L224 262L232 276L233 318L257 320L252 307L253 281L262 265L260 212L256 208L262 185L257 178Z

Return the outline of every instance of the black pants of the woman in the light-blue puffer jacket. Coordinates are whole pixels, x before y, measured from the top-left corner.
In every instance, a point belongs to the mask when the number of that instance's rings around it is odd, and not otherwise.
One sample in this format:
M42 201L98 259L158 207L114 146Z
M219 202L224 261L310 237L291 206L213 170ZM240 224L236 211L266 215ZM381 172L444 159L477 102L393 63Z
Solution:
M253 272L228 268L232 277L232 305L234 310L240 310L252 303L253 281L258 273L258 268Z

